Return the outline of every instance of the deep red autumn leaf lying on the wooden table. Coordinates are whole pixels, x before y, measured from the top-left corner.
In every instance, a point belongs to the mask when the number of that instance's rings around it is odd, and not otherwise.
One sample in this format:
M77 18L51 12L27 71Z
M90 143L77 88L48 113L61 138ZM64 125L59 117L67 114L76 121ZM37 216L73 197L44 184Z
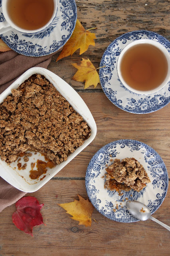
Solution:
M12 221L17 228L32 235L32 228L43 223L40 210L44 204L39 204L37 198L25 196L16 202L16 212L12 214Z

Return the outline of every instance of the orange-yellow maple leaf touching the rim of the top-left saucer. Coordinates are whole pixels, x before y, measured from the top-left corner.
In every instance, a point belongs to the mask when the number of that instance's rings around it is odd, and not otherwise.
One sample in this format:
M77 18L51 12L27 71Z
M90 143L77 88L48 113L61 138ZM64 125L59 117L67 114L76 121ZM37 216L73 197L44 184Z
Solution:
M96 39L95 33L85 30L79 20L77 20L73 34L64 45L63 50L59 54L56 62L64 57L72 55L79 48L80 54L87 51L89 45L95 46L94 39Z

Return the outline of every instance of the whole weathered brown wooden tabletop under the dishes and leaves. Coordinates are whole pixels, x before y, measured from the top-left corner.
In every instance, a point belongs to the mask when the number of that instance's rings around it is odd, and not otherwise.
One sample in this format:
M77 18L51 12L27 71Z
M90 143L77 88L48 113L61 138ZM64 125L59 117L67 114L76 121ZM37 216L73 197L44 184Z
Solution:
M105 144L118 139L140 140L154 148L170 174L170 104L150 114L125 112L113 105L98 85L83 90L83 83L71 80L71 66L89 58L96 68L107 46L118 36L132 30L151 30L170 39L170 2L168 0L76 0L78 18L89 29L97 26L95 47L79 56L75 52L48 69L69 83L86 102L97 124L95 140L53 177L45 186L30 194L44 203L44 223L33 229L34 238L12 223L15 205L0 214L0 256L168 256L170 232L151 220L119 223L93 212L91 227L79 226L57 203L71 202L77 194L87 198L85 172L92 156ZM93 31L94 32L94 31ZM66 71L67 70L67 71ZM58 195L56 198L55 196ZM170 225L170 190L155 218Z

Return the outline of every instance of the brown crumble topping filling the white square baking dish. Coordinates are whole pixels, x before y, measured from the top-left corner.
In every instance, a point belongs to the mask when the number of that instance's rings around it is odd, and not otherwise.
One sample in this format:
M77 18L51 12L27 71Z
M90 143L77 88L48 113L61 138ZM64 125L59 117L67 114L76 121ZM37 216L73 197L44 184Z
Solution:
M29 151L53 166L67 160L91 129L44 76L34 74L0 104L0 158L8 164Z

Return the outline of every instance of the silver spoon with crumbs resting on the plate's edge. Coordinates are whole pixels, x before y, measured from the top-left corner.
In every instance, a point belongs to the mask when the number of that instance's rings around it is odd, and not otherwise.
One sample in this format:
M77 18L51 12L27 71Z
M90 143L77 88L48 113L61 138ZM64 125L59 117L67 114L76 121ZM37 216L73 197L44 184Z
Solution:
M164 228L170 231L170 227L159 220L156 220L151 216L150 209L145 204L142 204L138 201L127 201L126 203L127 210L130 214L132 214L138 220L154 220Z

